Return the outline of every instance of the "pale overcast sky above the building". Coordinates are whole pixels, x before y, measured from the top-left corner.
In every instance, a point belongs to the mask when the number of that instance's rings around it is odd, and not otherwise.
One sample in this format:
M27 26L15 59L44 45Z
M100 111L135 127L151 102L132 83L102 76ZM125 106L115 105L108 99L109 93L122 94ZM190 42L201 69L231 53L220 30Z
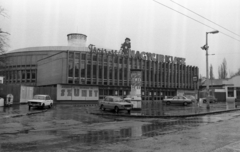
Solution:
M205 51L209 34L209 65L218 78L218 66L227 60L229 71L240 68L240 37L176 5L158 2L203 24L189 19L152 0L0 0L8 18L0 27L11 34L10 50L34 46L67 45L67 34L87 35L87 45L118 50L126 37L132 49L186 58L206 75ZM239 0L174 0L188 9L240 35ZM234 40L227 34L237 40Z

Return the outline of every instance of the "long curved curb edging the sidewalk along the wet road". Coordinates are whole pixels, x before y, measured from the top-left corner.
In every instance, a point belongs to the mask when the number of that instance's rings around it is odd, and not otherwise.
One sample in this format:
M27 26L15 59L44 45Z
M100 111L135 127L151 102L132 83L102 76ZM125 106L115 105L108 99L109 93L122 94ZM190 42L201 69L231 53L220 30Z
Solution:
M227 112L233 112L233 111L238 111L238 110L240 110L240 108L231 109L231 110L214 111L214 112L205 112L205 113L199 113L199 114L165 115L165 116L125 115L125 114L108 114L108 113L95 113L95 112L91 112L90 114L101 115L101 116L129 117L129 118L184 118L184 117L214 115L214 114L227 113Z

